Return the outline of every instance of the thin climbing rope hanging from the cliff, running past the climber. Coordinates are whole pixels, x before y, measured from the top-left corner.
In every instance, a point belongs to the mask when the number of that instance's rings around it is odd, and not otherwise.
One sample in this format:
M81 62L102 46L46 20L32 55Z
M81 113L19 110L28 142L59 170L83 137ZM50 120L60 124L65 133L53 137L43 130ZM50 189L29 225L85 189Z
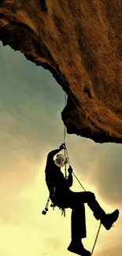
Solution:
M65 92L65 106L66 106L66 92ZM68 165L70 166L70 161L69 161L69 158L68 158L68 150L67 150L67 147L66 147L66 128L65 128L65 132L64 132L64 143L65 143L65 157L67 157L68 159ZM76 180L79 182L80 186L83 188L84 191L85 188L83 187L83 185L80 183L79 179L76 177L75 173L72 172L72 174L75 176ZM66 178L66 165L65 165L65 178ZM97 232L97 235L95 237L95 240L94 240L94 245L92 247L92 250L91 250L91 255L93 254L93 251L94 251L94 247L97 243L97 240L98 240L98 234L100 232L100 229L101 229L101 226L102 226L102 222L100 222L99 224L99 227L98 227L98 232Z

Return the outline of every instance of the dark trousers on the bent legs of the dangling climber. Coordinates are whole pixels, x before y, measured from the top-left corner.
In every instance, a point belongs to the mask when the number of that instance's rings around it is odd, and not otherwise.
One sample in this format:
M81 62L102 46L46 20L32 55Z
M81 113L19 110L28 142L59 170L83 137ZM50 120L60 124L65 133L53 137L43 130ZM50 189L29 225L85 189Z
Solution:
M94 213L94 217L100 220L105 217L105 211L96 201L94 193L87 192L73 192L70 191L68 195L69 208L72 209L71 217L71 235L72 240L81 240L87 237L86 231L86 217L84 203L91 208Z

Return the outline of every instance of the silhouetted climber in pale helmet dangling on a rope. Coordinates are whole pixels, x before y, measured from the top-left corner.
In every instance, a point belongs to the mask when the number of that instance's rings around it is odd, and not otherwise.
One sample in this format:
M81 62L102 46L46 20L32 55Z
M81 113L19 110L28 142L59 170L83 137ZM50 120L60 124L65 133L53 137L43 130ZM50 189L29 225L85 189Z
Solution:
M46 161L46 185L50 191L50 199L55 206L60 208L71 208L71 243L68 250L79 255L90 256L91 252L83 247L81 239L87 237L86 232L86 219L84 203L91 208L94 217L100 220L103 226L109 230L113 223L119 217L119 210L113 213L106 214L102 207L98 204L94 193L91 191L74 192L69 187L72 187L72 167L68 168L68 178L65 179L61 173L63 167L68 161L63 155L58 154L61 150L65 149L65 143L51 151L47 156ZM57 158L54 161L54 156Z

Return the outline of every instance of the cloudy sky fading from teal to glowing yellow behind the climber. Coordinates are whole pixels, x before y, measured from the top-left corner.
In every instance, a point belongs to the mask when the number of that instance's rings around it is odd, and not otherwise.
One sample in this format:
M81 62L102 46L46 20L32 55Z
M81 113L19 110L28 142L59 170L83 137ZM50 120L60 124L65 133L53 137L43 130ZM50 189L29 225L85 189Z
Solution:
M46 155L64 138L65 92L48 70L2 43L0 60L0 256L73 256L67 250L71 210L66 217L58 208L42 214ZM94 192L106 213L120 210L114 228L102 226L93 255L121 256L122 145L76 135L66 135L66 143L83 187ZM72 190L83 191L75 178ZM99 222L88 206L86 214L83 244L91 250Z

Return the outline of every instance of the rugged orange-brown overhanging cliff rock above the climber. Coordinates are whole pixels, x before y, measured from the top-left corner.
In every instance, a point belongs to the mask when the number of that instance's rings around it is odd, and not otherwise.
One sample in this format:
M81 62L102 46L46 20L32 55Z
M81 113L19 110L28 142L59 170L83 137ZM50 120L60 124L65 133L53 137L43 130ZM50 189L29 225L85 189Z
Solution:
M0 40L61 84L68 133L122 143L120 0L0 0Z

